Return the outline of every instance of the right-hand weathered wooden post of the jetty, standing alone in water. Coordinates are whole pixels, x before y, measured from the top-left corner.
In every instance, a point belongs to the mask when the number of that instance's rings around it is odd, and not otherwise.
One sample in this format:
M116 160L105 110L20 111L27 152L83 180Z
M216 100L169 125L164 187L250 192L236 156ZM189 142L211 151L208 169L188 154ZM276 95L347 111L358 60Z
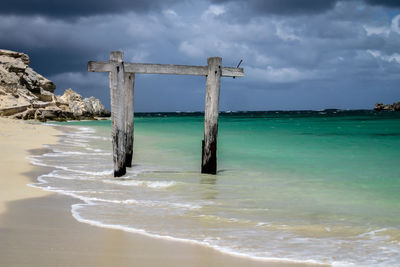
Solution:
M206 103L204 111L204 140L202 142L201 173L217 173L217 136L219 92L222 74L222 58L208 58Z

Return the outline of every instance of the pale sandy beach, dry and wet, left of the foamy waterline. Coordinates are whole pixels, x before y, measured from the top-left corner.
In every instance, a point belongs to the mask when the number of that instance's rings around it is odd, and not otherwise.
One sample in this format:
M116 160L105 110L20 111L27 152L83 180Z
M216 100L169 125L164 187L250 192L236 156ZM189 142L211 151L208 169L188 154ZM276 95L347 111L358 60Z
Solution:
M57 141L52 127L0 119L0 266L305 266L77 222L78 200L28 187L40 173L29 150Z

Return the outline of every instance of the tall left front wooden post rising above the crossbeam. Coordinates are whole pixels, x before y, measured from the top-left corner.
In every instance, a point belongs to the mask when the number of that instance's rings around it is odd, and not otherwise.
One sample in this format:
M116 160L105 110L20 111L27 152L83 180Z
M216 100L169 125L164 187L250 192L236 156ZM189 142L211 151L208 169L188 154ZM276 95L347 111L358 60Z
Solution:
M111 95L111 122L112 122L112 144L114 160L114 177L120 177L126 173L125 167L125 86L124 86L124 63L122 52L111 52L109 72L110 95Z

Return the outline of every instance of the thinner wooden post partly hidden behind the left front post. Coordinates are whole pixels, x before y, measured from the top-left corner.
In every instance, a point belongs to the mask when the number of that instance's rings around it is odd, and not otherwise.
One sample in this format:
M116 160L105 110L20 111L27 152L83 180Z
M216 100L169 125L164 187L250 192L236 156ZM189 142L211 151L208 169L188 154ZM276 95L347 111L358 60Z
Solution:
M126 158L125 166L132 167L133 155L133 92L135 88L135 73L125 72L125 128L126 128Z

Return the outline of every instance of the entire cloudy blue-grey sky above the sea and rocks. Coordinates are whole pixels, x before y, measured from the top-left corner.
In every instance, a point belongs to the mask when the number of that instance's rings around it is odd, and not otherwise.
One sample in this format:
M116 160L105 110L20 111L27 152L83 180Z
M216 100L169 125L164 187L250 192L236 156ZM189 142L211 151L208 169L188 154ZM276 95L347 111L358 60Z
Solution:
M371 109L400 101L398 0L2 0L0 48L109 107L105 73L87 62L223 66L220 110ZM137 74L135 110L203 111L205 77Z

